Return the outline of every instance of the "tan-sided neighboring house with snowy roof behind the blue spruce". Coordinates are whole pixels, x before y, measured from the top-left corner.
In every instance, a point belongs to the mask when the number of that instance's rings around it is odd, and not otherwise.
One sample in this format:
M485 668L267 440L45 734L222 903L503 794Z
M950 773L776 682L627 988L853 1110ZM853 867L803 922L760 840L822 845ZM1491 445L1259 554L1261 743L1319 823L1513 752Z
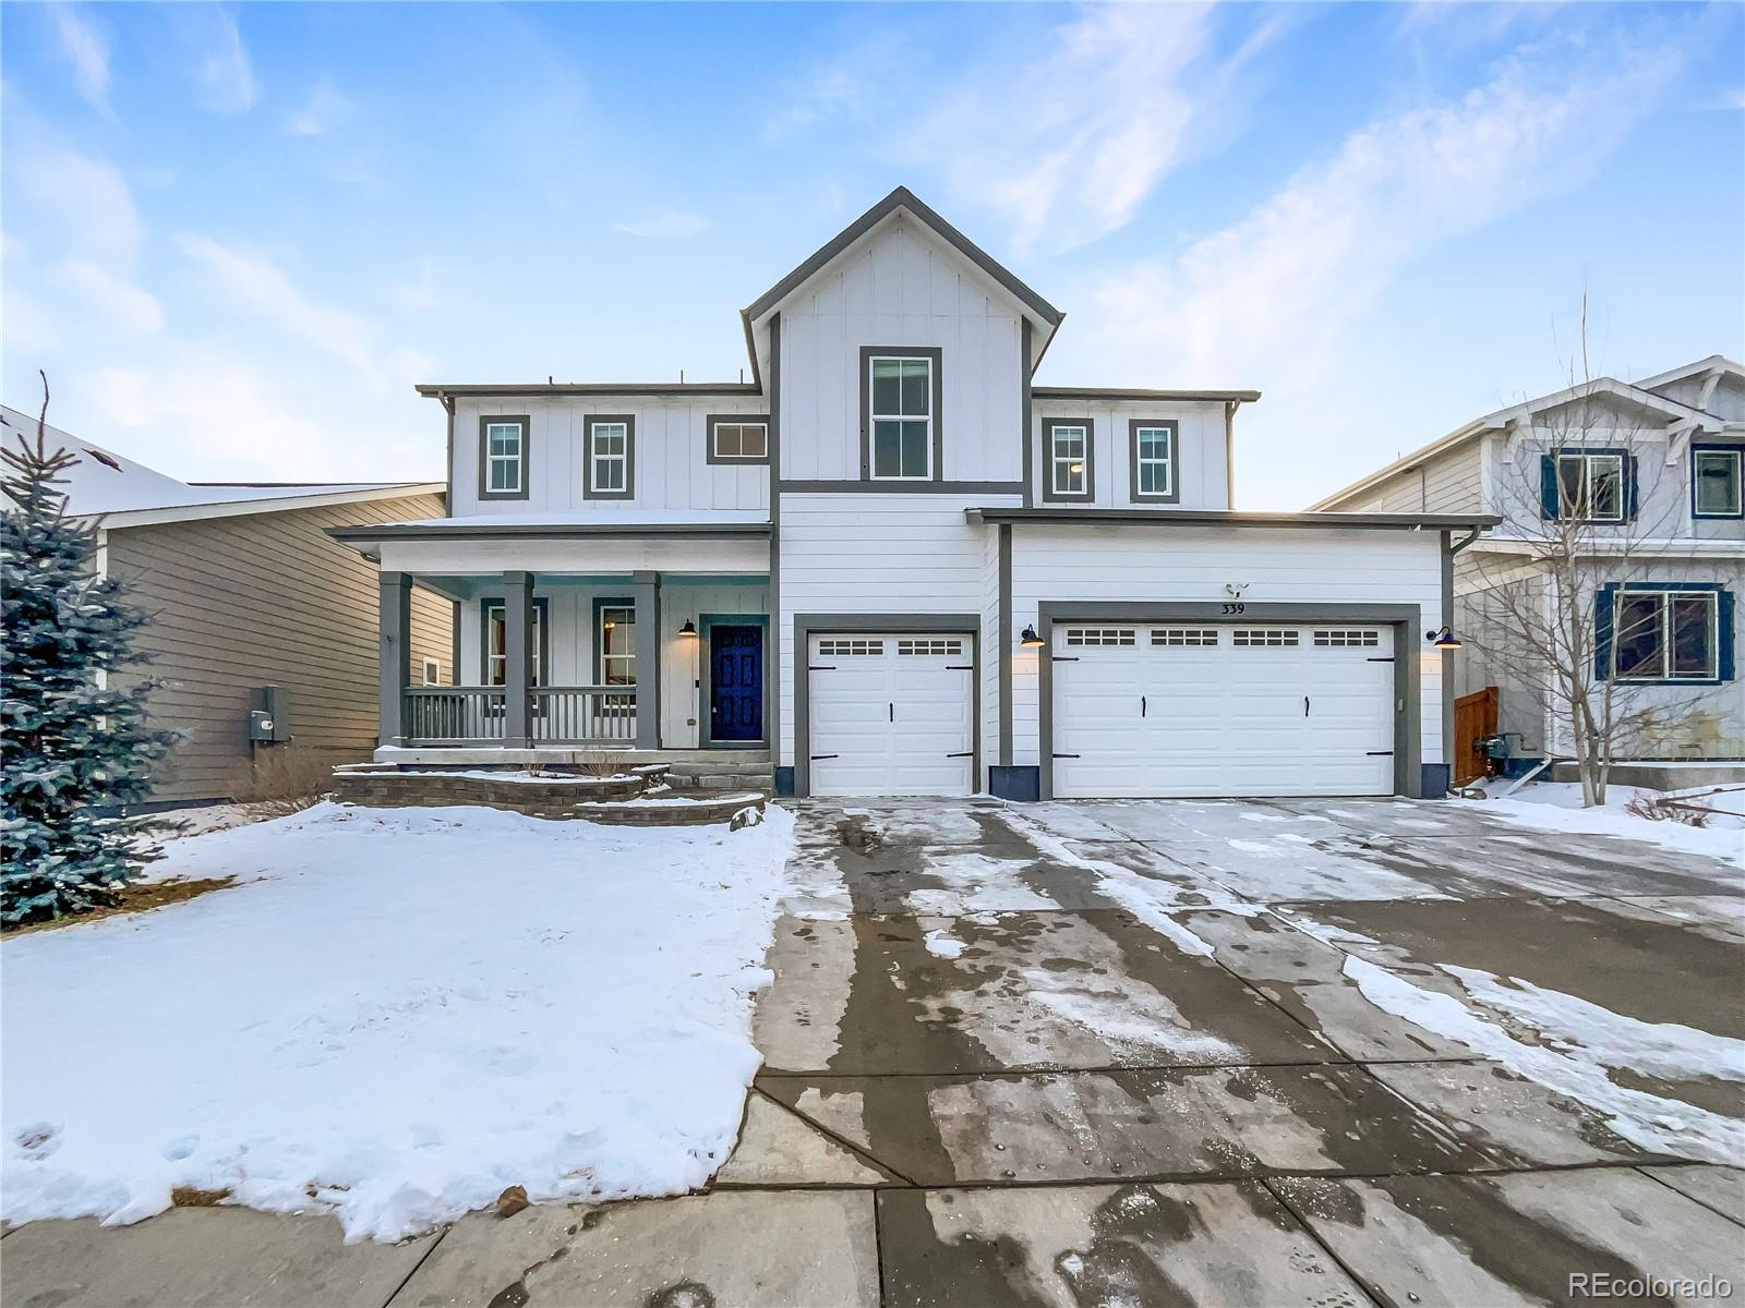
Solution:
M35 439L35 417L0 406L0 420L7 443ZM134 638L152 659L141 673L164 680L152 722L183 732L154 802L305 788L323 767L370 757L375 576L326 530L438 516L441 483L190 485L56 427L47 439L79 455L68 508L98 520L99 570L152 616ZM421 596L421 678L452 675L452 605ZM279 689L270 703L265 687ZM270 710L270 732L251 732L255 710Z

